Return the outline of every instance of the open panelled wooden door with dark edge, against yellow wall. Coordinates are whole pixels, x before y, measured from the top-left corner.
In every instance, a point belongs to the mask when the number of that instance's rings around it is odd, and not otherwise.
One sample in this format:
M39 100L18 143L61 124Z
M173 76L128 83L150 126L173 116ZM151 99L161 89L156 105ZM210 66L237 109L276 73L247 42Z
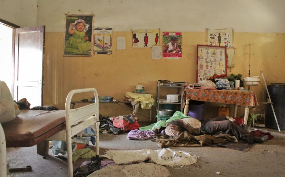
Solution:
M45 26L17 28L15 31L14 99L27 98L42 106Z

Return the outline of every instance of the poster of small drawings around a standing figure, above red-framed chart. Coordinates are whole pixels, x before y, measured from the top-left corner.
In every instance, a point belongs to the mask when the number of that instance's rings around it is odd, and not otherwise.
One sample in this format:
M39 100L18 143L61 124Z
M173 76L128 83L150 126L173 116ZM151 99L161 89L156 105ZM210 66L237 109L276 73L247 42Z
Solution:
M227 48L234 47L233 29L207 29L207 43L213 46L225 46Z

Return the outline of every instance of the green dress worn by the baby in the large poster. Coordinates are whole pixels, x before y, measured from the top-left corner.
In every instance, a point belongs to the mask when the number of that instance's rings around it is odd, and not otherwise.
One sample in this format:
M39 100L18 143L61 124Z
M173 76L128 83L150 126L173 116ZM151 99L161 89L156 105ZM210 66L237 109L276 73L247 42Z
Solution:
M91 50L91 42L84 41L85 32L77 31L65 42L64 52L67 53L83 53Z

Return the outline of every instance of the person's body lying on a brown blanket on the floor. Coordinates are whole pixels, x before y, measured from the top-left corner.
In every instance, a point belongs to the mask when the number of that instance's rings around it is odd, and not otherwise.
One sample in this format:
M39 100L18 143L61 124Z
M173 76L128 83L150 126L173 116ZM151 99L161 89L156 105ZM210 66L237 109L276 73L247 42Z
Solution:
M267 141L267 136L255 137L225 116L207 119L204 122L191 117L173 120L168 123L165 133L166 135L153 136L162 148L169 146L199 147L224 141L235 143L240 140L248 143Z

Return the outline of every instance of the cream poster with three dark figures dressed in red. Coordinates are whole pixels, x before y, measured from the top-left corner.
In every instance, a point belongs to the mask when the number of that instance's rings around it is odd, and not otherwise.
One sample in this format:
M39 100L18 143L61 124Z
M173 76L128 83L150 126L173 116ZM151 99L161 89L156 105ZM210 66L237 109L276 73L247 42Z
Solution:
M159 46L159 29L139 29L133 31L133 48Z

